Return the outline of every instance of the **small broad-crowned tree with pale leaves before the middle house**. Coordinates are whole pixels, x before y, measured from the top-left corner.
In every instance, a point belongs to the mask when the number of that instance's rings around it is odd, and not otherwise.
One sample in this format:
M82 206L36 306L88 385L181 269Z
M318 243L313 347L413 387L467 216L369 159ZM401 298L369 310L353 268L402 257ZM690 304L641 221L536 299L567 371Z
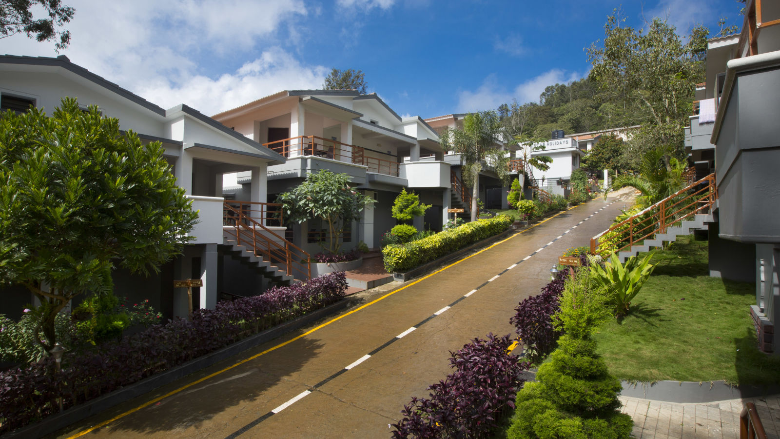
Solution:
M349 175L321 170L310 173L303 183L278 196L284 205L285 216L295 223L307 219L328 222L328 252L338 253L340 237L346 227L360 218L360 212L374 203L374 198L360 194L349 186Z

